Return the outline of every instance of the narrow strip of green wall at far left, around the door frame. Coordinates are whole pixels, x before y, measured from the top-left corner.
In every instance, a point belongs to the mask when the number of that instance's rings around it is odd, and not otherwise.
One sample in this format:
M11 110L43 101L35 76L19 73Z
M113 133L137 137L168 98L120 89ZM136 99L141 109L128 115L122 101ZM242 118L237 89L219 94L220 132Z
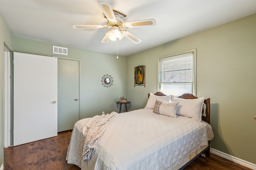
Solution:
M14 47L13 35L8 28L2 14L0 14L0 168L4 164L4 116L3 116L3 57L4 57L4 43L10 50Z

